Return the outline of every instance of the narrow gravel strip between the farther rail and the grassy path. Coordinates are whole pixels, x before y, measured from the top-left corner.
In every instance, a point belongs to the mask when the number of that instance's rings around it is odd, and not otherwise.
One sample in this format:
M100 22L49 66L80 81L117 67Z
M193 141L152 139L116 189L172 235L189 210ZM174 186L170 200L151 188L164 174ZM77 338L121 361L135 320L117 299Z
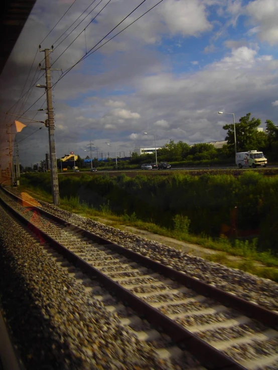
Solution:
M70 213L46 202L41 202L41 208L113 243L122 245L179 271L184 271L188 275L212 284L219 289L278 312L278 284L272 280L263 279L242 270L228 268L219 263L206 261L201 257L191 256L159 242Z

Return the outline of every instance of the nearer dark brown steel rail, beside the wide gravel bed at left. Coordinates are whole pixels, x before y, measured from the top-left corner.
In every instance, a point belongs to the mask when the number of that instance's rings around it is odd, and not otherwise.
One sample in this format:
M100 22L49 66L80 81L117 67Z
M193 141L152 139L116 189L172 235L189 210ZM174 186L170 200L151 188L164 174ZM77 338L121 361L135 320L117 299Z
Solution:
M111 278L109 278L108 276L100 272L99 270L97 270L92 265L88 264L82 258L75 255L73 252L71 252L69 249L64 247L62 244L54 240L47 233L45 233L40 228L32 224L23 215L19 214L16 210L14 210L8 203L6 203L1 198L0 198L0 203L3 205L4 208L7 208L9 212L13 216L15 216L17 219L19 219L23 224L29 227L31 226L32 232L34 232L37 236L42 237L47 243L51 245L51 247L53 247L59 253L61 253L64 257L66 257L68 261L70 261L76 267L79 267L89 277L92 277L92 278L97 277L99 281L101 282L101 284L103 284L110 291L113 291L114 293L116 293L117 297L120 297L124 302L128 303L128 305L132 307L138 313L144 314L147 320L149 320L151 323L160 326L178 345L182 346L182 348L192 353L200 361L200 363L202 363L206 368L215 369L215 370L243 370L245 369L245 367L243 367L242 365L234 361L232 358L228 357L227 355L220 352L219 350L217 350L210 344L206 343L205 341L200 339L195 334L192 334L190 331L185 329L183 326L179 325L178 323L176 323L175 321L167 317L165 314L161 313L157 308L154 308L150 304L141 300L140 298L132 294L129 290L123 288L117 282L115 282L114 280L112 280ZM31 203L29 204L30 206L32 206ZM38 207L35 207L35 208L41 211L40 208ZM57 221L57 217L54 216L53 220ZM65 224L69 224L69 223L65 222ZM79 230L81 232L85 231L79 227L76 227L76 228L78 231ZM86 233L86 236L89 234ZM107 244L107 241L105 239L100 238L100 237L98 238L99 238L100 244ZM108 244L109 244L109 247L110 246L120 247L111 242L109 242ZM120 250L121 248L122 247L120 247ZM132 254L133 253L134 252L132 252ZM135 254L137 255L137 253Z

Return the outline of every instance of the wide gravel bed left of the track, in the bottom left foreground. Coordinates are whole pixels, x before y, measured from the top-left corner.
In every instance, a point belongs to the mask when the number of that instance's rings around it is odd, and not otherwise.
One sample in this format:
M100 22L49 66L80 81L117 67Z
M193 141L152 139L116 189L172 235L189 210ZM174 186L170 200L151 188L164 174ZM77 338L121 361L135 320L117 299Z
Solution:
M1 309L29 369L171 368L0 208Z

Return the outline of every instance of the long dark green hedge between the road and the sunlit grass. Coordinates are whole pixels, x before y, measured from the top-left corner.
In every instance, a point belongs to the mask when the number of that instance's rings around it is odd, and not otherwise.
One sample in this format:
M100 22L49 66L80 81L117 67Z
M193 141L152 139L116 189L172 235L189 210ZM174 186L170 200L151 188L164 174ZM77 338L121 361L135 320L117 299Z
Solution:
M22 177L23 185L50 191L49 174ZM78 196L94 208L107 204L116 214L174 228L175 216L190 220L190 232L228 237L258 234L261 250L278 252L278 177L263 177L252 170L242 175L169 176L133 178L124 174L59 178L60 196Z

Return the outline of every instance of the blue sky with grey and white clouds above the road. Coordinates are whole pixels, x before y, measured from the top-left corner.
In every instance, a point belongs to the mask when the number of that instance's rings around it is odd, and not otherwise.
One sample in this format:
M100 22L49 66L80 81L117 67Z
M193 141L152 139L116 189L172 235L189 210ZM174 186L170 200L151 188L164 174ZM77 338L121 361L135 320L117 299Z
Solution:
M38 69L44 64L41 44L42 50L54 46L51 63L62 70L52 72L58 158L69 151L85 157L90 140L99 156L109 151L111 157L114 145L125 156L134 147L154 147L154 134L158 146L170 139L224 140L222 126L232 116L218 111L234 113L236 121L251 112L262 127L266 119L277 124L277 0L164 0L90 55L141 2L37 0L0 77L2 122L13 122L3 115L7 111L46 119L36 111L46 107L44 90L30 89L45 84ZM146 0L98 46L158 2ZM45 158L43 124L28 123L16 140L24 166Z

